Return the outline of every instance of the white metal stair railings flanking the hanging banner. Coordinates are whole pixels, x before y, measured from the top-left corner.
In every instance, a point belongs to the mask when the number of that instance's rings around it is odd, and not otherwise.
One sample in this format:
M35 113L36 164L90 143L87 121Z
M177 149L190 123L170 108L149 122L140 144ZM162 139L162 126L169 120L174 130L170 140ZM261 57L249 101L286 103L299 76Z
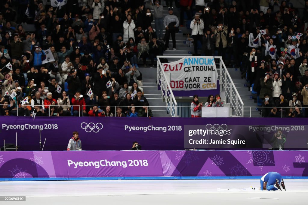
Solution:
M157 84L160 85L162 95L164 95L166 106L168 107L168 110L176 110L176 106L172 107L172 102L174 101L176 104L176 100L174 98L174 95L172 93L172 90L170 89L169 85L169 79L164 72L164 69L161 65L160 58L168 58L170 61L177 61L186 56L157 56ZM204 58L204 56L194 56L194 58ZM219 59L219 62L215 61L216 69L218 72L218 79L220 86L220 92L225 92L226 101L225 103L229 103L230 107L234 108L234 112L236 116L243 117L244 115L244 103L241 99L240 94L237 91L237 88L235 87L232 78L225 66L224 61L222 60L222 57L215 56L214 59ZM170 92L168 92L170 90ZM176 111L175 111L176 113ZM171 116L172 112L170 112ZM177 113L176 113L177 114Z

